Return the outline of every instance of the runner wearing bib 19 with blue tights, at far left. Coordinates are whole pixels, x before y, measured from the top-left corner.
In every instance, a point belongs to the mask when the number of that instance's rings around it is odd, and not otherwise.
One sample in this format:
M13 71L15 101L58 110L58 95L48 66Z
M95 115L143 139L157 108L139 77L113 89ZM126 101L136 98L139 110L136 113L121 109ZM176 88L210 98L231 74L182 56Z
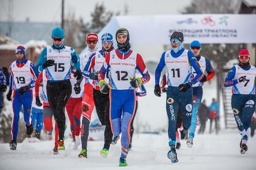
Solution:
M31 137L33 132L31 109L33 91L32 87L35 85L37 74L33 63L25 58L26 49L24 46L17 46L16 48L17 60L10 65L10 87L7 93L7 100L11 101L13 90L13 117L12 117L12 141L10 142L10 149L16 150L17 135L18 135L18 121L20 109L24 108L24 121L26 122L27 137Z

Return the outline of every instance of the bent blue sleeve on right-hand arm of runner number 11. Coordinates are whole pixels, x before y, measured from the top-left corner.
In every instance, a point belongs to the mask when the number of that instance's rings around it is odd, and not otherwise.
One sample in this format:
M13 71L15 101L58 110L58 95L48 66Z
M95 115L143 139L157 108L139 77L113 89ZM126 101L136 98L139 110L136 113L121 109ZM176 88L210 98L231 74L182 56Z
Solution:
M202 68L200 67L199 62L197 61L197 58L191 51L187 52L187 56L188 56L188 62L191 64L191 66L194 68L194 70L197 73L197 75L191 80L193 84L196 84L204 77L203 71L202 71ZM192 86L191 83L188 83L188 84Z

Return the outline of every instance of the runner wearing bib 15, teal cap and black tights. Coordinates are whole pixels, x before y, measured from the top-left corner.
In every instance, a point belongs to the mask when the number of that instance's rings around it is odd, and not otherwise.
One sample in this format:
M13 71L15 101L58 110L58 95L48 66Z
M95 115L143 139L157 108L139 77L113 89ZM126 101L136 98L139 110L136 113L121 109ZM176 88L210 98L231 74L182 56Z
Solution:
M36 68L40 71L46 69L47 97L59 130L58 150L65 150L65 106L72 92L71 64L76 69L76 79L80 79L82 74L75 50L64 45L65 33L61 28L53 29L52 40L53 45L42 50Z

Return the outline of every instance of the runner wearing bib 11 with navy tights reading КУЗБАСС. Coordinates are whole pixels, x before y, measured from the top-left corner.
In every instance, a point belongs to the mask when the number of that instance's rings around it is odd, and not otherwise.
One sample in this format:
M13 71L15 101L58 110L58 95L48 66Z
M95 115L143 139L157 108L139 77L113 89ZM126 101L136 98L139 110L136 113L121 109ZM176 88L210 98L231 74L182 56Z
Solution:
M190 88L203 78L203 72L195 55L183 48L183 34L174 32L170 36L172 50L162 54L160 62L155 71L155 95L161 96L159 79L161 71L166 65L168 71L168 89L166 92L166 112L168 116L169 147L168 158L174 163L178 162L175 150L176 144L176 120L179 107L182 110L182 125L185 130L190 127L193 90ZM192 67L196 76L191 80Z

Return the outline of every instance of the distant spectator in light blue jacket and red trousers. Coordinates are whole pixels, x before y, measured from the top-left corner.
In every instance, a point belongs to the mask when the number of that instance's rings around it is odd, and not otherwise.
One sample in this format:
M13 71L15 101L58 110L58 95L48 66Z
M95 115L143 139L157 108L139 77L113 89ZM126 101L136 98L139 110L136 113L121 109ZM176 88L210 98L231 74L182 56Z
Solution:
M212 126L212 120L215 120L215 130L216 134L218 134L218 119L220 117L220 108L219 104L215 101L215 99L212 99L212 102L209 106L210 114L210 133L211 133L211 126Z

